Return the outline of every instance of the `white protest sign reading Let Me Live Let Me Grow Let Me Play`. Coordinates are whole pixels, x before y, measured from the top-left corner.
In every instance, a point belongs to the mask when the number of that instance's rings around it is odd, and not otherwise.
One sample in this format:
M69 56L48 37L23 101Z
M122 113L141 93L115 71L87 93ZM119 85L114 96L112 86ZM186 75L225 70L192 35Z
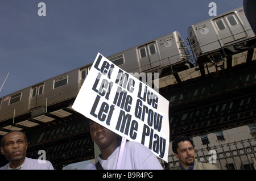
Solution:
M147 146L168 162L169 102L100 53L72 106L105 128Z

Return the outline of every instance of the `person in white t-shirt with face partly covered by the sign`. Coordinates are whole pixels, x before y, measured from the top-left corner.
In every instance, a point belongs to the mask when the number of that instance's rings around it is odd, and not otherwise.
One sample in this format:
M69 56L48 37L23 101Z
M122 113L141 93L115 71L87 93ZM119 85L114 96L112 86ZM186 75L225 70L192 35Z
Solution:
M101 154L99 162L89 163L85 170L115 170L121 137L92 120L89 121L89 129L90 136L100 148ZM122 159L122 170L163 170L152 151L138 142L126 142Z

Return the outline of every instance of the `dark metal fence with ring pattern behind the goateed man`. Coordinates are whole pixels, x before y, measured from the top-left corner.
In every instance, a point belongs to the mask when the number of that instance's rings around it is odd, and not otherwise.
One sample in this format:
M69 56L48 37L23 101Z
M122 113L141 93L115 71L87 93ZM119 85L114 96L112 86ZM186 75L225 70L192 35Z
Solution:
M198 162L214 163L220 170L255 170L256 137L217 146L207 145L206 148L195 149L195 154ZM164 169L171 170L179 166L174 154L169 155L168 160L168 163L162 163Z

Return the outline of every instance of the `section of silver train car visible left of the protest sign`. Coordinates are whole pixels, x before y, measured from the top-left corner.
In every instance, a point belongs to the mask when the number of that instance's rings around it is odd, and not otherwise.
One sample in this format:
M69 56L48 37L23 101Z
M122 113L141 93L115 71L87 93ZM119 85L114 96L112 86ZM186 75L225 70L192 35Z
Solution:
M26 115L34 117L47 107L75 98L91 65L68 71L0 98L0 122Z

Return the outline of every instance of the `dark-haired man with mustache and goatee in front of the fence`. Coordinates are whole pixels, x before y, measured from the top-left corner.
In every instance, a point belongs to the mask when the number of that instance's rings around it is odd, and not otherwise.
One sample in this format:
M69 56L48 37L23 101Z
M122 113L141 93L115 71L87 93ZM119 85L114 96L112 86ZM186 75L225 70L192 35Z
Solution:
M175 138L172 141L172 151L180 161L180 166L177 166L175 170L218 170L218 167L213 164L195 161L194 143L189 137Z

